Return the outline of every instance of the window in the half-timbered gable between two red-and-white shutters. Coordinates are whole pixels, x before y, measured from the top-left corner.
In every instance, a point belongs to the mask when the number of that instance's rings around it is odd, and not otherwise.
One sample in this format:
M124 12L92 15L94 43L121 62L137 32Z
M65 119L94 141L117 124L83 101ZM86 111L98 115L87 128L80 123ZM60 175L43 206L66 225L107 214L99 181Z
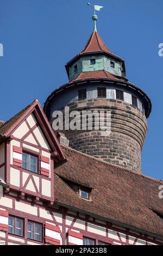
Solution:
M38 157L33 154L23 152L23 169L38 172Z

